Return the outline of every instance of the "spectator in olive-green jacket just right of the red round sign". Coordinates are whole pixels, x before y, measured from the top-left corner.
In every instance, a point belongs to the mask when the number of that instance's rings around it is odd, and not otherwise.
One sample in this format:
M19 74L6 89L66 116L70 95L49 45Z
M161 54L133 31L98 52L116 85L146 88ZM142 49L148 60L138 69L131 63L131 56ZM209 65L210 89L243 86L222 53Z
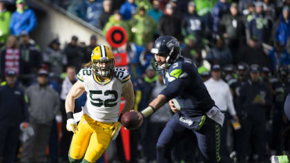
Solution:
M138 46L146 46L154 39L154 32L157 23L154 19L146 15L144 7L139 8L138 14L129 21L132 31L132 41Z

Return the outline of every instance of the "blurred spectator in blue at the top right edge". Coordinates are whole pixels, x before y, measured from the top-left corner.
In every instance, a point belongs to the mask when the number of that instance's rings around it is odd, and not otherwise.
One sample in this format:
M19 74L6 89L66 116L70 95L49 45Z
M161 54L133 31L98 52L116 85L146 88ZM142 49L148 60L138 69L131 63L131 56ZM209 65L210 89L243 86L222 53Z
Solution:
M289 7L285 6L283 8L282 15L280 15L280 22L276 30L276 41L281 41L283 45L286 45L289 36L290 36Z

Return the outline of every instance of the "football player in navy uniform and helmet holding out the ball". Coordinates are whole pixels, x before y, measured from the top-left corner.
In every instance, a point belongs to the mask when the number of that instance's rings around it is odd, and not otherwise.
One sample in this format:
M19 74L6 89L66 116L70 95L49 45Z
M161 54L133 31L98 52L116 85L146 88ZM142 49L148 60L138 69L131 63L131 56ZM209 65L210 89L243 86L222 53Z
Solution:
M139 126L169 100L175 115L167 122L157 142L157 162L172 162L171 148L185 137L197 137L205 162L230 162L220 157L220 127L224 115L215 106L193 61L180 55L180 44L168 35L155 40L152 66L162 71L166 88L141 113Z

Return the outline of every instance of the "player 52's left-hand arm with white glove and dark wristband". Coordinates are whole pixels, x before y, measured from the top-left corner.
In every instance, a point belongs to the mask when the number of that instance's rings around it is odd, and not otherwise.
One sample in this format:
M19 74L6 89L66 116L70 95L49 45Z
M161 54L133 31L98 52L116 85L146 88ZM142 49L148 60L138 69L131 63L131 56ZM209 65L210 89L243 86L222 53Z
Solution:
M75 119L73 118L75 99L81 96L84 93L84 90L84 83L82 81L77 81L66 96L66 129L73 133L77 133L77 122L75 122Z

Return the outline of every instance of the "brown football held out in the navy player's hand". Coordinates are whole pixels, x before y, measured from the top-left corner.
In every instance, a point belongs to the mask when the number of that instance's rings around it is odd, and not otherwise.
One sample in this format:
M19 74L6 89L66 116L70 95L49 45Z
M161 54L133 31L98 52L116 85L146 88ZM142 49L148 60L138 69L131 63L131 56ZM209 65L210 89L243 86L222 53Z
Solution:
M121 123L129 130L137 128L139 124L137 113L134 111L124 113L121 117Z

